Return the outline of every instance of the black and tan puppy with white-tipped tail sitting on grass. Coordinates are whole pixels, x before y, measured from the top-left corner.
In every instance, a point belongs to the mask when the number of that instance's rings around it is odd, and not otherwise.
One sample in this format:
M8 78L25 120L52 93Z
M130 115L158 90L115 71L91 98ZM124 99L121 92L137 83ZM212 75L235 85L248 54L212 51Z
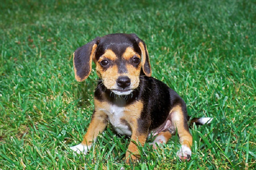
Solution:
M95 110L81 144L71 147L87 153L92 142L107 126L131 136L126 158L139 155L134 142L144 144L149 135L156 136L154 147L166 143L177 131L180 159L189 161L192 136L189 133L186 104L163 82L151 77L145 43L135 34L109 34L97 37L74 52L76 80L86 79L96 64L99 83L94 93ZM205 124L211 118L193 119Z

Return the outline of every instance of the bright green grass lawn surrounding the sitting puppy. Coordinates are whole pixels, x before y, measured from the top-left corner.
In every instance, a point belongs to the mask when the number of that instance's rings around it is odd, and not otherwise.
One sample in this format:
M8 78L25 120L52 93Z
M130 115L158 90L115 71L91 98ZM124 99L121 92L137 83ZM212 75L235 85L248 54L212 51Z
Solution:
M129 138L108 127L90 153L82 140L93 111L96 72L74 79L72 53L96 36L136 33L153 77L180 94L192 117L192 159L174 136L140 147L137 170L256 169L256 3L252 0L0 3L0 169L120 169Z

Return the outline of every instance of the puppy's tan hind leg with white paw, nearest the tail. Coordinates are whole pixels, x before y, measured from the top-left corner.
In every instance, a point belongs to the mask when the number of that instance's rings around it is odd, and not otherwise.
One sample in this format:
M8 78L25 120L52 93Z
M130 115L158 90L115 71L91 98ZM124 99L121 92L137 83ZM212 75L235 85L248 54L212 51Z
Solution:
M186 106L185 106L186 107ZM191 157L192 135L189 132L189 126L186 120L186 113L183 113L180 106L175 106L171 111L172 124L177 128L180 138L181 148L177 152L177 156L182 161L189 161Z

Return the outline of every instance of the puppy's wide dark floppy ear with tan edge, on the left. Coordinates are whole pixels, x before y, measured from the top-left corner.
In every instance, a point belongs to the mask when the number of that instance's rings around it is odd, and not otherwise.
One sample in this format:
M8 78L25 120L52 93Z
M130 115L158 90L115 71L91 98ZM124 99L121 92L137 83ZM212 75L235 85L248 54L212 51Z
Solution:
M75 78L79 82L87 79L92 70L92 60L95 56L98 39L99 38L97 37L84 46L77 48L73 54Z

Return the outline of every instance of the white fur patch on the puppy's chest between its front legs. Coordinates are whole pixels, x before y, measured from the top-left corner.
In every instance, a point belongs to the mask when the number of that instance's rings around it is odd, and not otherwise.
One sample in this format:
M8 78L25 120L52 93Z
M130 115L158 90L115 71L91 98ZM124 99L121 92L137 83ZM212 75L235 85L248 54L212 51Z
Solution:
M117 133L122 135L131 136L131 130L128 125L122 121L125 117L124 107L119 107L117 105L111 105L109 110L101 109L108 115L109 122L113 125L113 128Z

